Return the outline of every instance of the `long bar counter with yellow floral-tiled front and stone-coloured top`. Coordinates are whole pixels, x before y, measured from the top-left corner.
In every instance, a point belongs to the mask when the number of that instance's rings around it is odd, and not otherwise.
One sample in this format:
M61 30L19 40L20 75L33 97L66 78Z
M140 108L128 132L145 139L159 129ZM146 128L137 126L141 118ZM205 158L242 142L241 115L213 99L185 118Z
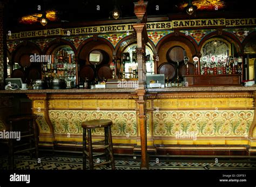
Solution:
M255 91L256 87L241 86L146 89L147 151L255 155ZM41 146L80 148L82 121L110 119L115 153L140 150L136 89L17 90L0 94L5 103L19 94L32 101ZM1 117L0 130L5 129L5 116ZM98 140L103 133L103 129L95 130L93 137Z

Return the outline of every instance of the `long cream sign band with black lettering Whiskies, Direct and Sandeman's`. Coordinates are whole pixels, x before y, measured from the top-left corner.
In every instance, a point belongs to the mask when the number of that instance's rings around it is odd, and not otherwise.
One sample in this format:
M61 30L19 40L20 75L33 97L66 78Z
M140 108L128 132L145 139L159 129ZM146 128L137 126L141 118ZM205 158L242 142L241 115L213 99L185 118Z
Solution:
M120 24L120 25L101 25L101 26L87 26L72 29L48 29L39 31L26 31L19 33L12 33L7 35L8 40L33 38L43 36L74 36L79 34L92 34L92 33L115 33L133 31L133 24ZM190 19L190 20L172 20L171 22L153 22L147 23L146 28L150 30L171 30L181 28L194 28L194 27L216 27L216 26L253 26L256 25L256 18L246 19Z

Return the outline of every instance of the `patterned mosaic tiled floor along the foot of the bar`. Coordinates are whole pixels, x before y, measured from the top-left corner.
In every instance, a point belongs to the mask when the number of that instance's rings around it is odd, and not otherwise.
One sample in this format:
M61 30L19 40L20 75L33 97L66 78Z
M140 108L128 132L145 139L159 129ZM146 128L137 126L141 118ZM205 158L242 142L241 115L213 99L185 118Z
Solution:
M103 162L104 160L98 160ZM95 163L97 160L95 160ZM15 157L16 169L18 170L80 170L82 169L83 161L80 157L63 157L63 156L48 156L41 157L41 163L37 163L36 159L30 160L29 156L16 156ZM138 160L115 160L117 170L138 170L140 168L140 161ZM87 164L89 166L89 164ZM7 157L0 157L0 169L7 169ZM182 169L256 169L256 162L225 162L219 163L207 162L207 161L166 161L166 160L152 160L149 163L151 170L182 170ZM111 169L104 165L95 169Z

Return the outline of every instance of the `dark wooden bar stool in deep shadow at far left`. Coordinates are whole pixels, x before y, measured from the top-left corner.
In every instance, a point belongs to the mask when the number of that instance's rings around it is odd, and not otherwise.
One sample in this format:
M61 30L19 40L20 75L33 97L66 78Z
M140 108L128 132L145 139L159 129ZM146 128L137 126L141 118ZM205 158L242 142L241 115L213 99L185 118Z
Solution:
M9 168L14 169L14 155L17 153L23 153L23 152L30 152L30 159L32 159L32 150L35 150L36 158L38 158L38 134L36 130L36 118L37 116L35 114L28 114L28 115L12 115L9 116L7 119L7 122L9 124L9 131L11 132L14 130L14 126L17 127L21 132L21 140L22 138L29 138L29 143L21 143L17 146L14 146L14 139L9 138L8 145L9 145ZM24 128L23 124L21 122L28 121L29 122L29 129L25 129L21 131L20 129ZM19 123L18 123L19 122ZM32 141L34 141L34 146L32 145ZM29 148L25 146L30 146ZM22 148L15 150L16 148Z

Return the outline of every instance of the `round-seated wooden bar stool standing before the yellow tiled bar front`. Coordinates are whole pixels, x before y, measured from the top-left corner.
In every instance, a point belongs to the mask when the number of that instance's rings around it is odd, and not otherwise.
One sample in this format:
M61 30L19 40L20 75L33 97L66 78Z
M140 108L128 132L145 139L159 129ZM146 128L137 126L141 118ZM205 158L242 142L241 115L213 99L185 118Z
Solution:
M99 165L109 165L111 163L111 168L114 167L114 158L113 158L113 145L112 145L112 136L111 136L111 120L90 120L84 121L81 123L83 128L83 169L86 169L86 156L89 157L89 165L90 169L94 169ZM94 141L92 142L91 129L103 128L104 127L104 135L105 140ZM88 136L86 137L86 130ZM86 140L88 141L88 151L86 151ZM104 146L92 147L93 143L105 142ZM105 149L105 153L98 153L93 155L92 151L96 149ZM106 161L102 163L93 164L93 156L105 155ZM110 158L109 158L110 156Z

